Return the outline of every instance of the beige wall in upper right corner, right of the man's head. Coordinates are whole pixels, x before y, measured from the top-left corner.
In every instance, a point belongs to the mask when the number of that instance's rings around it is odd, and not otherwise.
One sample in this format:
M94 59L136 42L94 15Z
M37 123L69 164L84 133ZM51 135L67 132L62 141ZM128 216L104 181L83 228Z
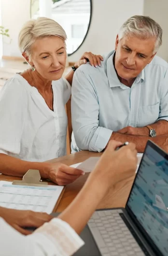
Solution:
M153 18L163 29L163 43L157 55L168 61L168 0L145 0L144 15Z

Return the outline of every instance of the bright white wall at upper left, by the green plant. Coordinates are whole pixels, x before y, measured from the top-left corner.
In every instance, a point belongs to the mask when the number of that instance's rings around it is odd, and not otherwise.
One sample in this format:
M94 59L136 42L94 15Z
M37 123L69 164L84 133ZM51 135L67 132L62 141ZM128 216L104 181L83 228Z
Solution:
M30 0L1 0L2 26L9 28L12 38L3 38L3 55L21 56L18 48L18 34L23 24L30 19Z

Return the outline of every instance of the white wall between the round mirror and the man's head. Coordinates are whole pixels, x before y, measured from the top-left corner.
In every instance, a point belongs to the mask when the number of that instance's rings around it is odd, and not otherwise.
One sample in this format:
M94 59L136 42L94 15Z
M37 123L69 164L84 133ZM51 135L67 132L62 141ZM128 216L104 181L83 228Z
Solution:
M92 0L90 29L83 45L69 57L76 61L85 51L104 54L114 49L116 35L127 18L143 15L144 0Z

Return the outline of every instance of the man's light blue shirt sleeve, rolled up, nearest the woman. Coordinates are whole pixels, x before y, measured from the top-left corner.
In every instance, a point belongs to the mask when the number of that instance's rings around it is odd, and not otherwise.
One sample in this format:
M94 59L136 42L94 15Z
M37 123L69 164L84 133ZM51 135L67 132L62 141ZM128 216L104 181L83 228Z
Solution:
M86 64L74 73L71 98L72 128L80 149L100 152L109 142L112 130L98 126L98 96L92 80L85 75L87 69Z

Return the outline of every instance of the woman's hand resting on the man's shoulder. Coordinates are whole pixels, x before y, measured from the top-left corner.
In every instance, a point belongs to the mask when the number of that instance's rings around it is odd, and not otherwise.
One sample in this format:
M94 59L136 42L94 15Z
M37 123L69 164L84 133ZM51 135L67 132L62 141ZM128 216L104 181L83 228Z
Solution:
M97 68L98 66L101 66L101 61L103 60L103 57L101 55L95 55L91 52L85 52L80 60L74 64L74 67L76 69L79 68L79 66L85 64L87 60L90 61L91 66Z

